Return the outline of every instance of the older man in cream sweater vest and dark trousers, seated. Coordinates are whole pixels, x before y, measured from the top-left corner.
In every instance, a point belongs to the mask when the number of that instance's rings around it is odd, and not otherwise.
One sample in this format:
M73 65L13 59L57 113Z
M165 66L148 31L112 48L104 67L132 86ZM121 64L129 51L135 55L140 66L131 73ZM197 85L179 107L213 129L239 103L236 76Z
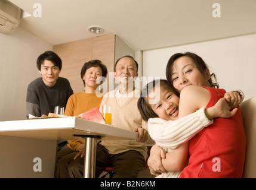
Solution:
M119 88L105 94L101 102L112 106L112 125L138 132L137 140L106 140L97 145L96 171L98 177L104 167L113 166L113 178L137 178L147 158L145 142L153 143L147 133L147 123L141 118L137 108L140 90L134 87L134 77L138 76L138 64L131 56L124 56L115 64L114 77ZM101 109L100 109L101 110ZM79 165L69 167L69 175L82 178L83 158Z

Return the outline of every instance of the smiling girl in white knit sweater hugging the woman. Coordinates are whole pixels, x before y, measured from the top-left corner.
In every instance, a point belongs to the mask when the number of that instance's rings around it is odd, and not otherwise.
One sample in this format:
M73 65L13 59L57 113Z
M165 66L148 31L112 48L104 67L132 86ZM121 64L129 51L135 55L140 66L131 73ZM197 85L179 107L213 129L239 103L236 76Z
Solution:
M179 97L167 84L166 80L152 81L147 84L138 100L138 109L144 121L148 122L150 137L166 152L186 143L205 126L212 124L209 119L216 117L228 118L235 115L237 111L237 109L234 109L230 112L231 107L226 100L221 99L213 107L208 109L202 107L195 113L178 119L179 103ZM182 170L184 164L186 164L187 144L181 145L180 150L182 150L180 151L181 154L178 154L177 163L175 163L177 168L181 168L178 171ZM174 162L174 160L166 160L166 162ZM167 164L165 164L165 167L168 167ZM158 178L178 178L180 173L162 173Z

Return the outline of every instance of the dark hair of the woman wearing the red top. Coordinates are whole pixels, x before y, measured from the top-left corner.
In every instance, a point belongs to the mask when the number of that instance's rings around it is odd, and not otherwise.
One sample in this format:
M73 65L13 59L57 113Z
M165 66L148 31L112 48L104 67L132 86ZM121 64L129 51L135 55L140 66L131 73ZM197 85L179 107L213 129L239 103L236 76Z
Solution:
M171 58L169 58L169 61L166 65L166 79L168 81L168 84L172 85L172 66L174 64L174 61L178 58L181 58L182 56L187 56L189 58L192 58L193 61L196 64L196 67L199 69L199 71L202 73L202 75L205 75L205 70L208 69L208 65L206 65L206 63L203 61L203 59L196 55L195 53L192 52L185 52L185 53L175 53L174 55L171 56ZM219 88L219 85L217 83L217 79L214 73L211 74L211 78L208 80L210 86L212 88Z

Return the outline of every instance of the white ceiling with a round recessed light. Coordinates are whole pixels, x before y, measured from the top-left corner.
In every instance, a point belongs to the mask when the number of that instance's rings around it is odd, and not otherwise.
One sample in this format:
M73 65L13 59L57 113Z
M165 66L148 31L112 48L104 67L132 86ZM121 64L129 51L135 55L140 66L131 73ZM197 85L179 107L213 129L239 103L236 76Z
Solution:
M255 0L9 0L31 14L21 27L52 45L116 33L133 50L149 50L256 33ZM221 17L212 17L218 2ZM33 17L33 5L42 17Z

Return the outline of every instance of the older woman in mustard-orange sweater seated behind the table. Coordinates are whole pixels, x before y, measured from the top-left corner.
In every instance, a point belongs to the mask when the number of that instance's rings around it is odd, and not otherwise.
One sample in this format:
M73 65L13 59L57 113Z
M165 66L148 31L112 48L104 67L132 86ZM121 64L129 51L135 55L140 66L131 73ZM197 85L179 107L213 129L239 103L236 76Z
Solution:
M101 61L92 60L85 63L81 69L81 78L85 85L85 90L69 97L64 115L78 116L94 107L99 108L103 94L98 94L96 90L100 85L100 77L106 78L106 76L107 68ZM74 160L76 154L84 152L84 141L72 139L68 143L57 154L57 178L69 178L67 167L73 162L78 162L78 160Z

